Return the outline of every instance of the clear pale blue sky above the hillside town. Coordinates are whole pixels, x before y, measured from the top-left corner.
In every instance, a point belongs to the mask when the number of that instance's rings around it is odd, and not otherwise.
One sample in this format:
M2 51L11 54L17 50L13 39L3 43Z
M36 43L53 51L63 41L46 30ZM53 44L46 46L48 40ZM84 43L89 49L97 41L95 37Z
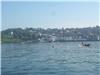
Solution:
M99 2L4 1L2 30L8 28L83 28L99 25Z

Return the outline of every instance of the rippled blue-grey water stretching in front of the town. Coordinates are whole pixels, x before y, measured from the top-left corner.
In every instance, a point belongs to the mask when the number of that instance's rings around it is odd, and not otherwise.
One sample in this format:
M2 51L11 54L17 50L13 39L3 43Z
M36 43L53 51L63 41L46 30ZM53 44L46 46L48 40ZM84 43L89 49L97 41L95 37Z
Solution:
M2 44L2 75L100 75L100 42Z

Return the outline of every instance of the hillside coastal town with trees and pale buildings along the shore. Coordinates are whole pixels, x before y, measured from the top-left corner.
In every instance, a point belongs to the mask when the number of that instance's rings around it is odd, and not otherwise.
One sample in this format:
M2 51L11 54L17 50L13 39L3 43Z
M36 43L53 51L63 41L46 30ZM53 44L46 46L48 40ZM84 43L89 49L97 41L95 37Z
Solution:
M100 27L87 28L13 28L1 32L2 42L100 41Z

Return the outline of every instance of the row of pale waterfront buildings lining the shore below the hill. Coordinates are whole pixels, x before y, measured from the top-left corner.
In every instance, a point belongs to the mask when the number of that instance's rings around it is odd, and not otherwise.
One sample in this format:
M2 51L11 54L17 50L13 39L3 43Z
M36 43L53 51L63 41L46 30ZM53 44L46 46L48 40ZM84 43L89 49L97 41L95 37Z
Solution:
M39 38L40 42L41 41L80 41L80 40L88 40L87 38L83 38L82 36L56 36L55 34L53 35L48 35L48 34L43 34L44 37ZM97 37L97 40L100 40L100 36Z

